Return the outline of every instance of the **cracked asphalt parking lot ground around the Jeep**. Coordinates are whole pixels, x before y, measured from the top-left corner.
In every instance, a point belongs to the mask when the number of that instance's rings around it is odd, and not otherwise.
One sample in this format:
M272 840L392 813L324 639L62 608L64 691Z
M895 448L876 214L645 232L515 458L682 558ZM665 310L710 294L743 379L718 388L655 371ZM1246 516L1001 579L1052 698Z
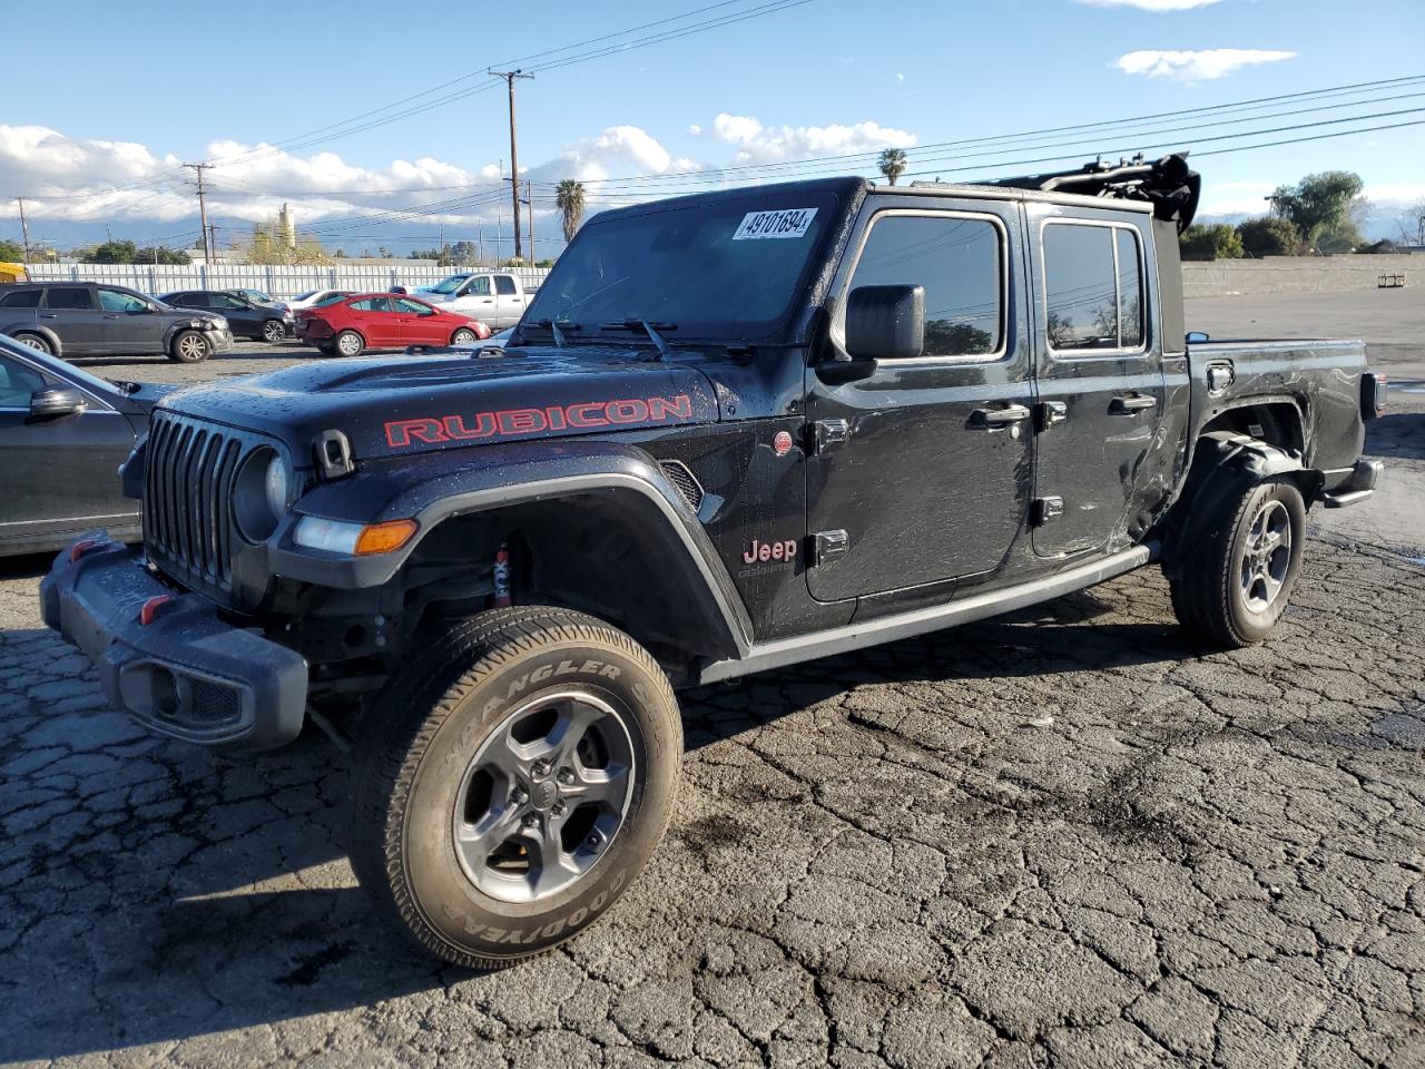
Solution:
M1188 325L1365 336L1398 386L1387 486L1312 513L1267 646L1187 644L1146 570L687 694L648 871L494 975L370 915L319 734L244 761L150 737L41 629L47 562L0 562L0 1060L1425 1065L1425 304Z

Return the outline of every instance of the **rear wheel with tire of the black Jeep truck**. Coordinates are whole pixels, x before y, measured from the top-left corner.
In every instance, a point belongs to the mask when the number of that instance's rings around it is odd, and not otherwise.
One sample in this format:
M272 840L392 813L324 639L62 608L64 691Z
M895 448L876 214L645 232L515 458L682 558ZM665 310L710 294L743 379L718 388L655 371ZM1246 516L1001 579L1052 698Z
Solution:
M1173 609L1190 631L1226 647L1253 646L1287 611L1301 572L1307 506L1285 479L1257 483L1171 582Z

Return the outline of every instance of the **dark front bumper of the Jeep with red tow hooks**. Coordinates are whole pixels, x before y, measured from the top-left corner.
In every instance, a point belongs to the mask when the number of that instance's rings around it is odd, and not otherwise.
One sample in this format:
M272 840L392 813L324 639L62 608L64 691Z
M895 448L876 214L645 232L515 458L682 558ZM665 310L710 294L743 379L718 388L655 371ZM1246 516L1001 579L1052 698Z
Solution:
M93 546L76 556L84 542ZM292 741L306 711L306 660L171 590L107 532L87 534L40 583L44 623L78 646L108 700L165 735L265 750ZM145 603L167 597L144 624Z

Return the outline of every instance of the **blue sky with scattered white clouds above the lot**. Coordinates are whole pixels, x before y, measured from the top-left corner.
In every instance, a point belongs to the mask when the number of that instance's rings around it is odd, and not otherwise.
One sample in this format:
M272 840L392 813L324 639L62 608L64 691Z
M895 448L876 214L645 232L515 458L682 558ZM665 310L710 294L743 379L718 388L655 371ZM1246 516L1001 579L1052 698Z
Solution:
M760 1L732 0L631 36L734 17ZM234 232L284 200L333 247L388 244L400 252L439 225L455 235L493 231L502 210L507 229L507 198L496 198L500 168L509 167L503 84L331 140L335 131L318 128L443 83L453 84L432 95L480 88L489 86L487 66L707 6L423 4L406 17L389 3L249 0L229 19L219 10L232 9L194 3L70 0L23 14L4 4L0 31L50 43L56 76L17 77L7 88L0 197L34 198L31 237L103 237L107 224L115 237L184 244L187 229L195 237L195 212L177 164L211 160L212 211ZM1144 10L1156 7L1187 10ZM1422 46L1419 0L811 0L522 81L520 168L536 182L536 228L551 235L549 197L561 177L589 181L597 204L725 181L705 174L717 167L750 168L741 178L825 171L798 161L888 145L908 151L912 172L958 178L1042 170L1050 164L1009 164L1054 153L1087 158L1093 147L1177 141L1206 153L1251 138L1198 138L1425 108L1425 95L1415 95L1425 83L1361 95L1354 110L1277 118L1263 110L1250 123L1181 134L1147 133L1178 123L1141 123L1087 140L1076 134L1083 144L972 160L965 154L986 148L918 147L1425 74ZM1342 98L1277 110L1334 103ZM1355 125L1419 118L1425 111ZM1342 127L1277 137L1332 128ZM304 143L309 131L318 133ZM1003 147L1017 144L990 145ZM871 172L865 158L829 167ZM1349 168L1385 218L1392 205L1425 200L1425 125L1204 155L1200 168L1210 212L1245 212L1278 182ZM648 174L677 177L601 181ZM452 198L463 200L442 204ZM396 211L426 214L389 218ZM13 215L11 201L0 235L17 237Z

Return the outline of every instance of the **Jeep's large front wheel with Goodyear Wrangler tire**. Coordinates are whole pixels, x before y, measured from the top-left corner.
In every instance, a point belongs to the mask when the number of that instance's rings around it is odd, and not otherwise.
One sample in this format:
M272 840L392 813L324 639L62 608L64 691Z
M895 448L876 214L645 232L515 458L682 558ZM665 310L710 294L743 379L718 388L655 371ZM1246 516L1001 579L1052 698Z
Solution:
M563 609L482 613L366 714L352 865L428 951L513 965L627 889L663 838L681 755L673 688L633 639Z

